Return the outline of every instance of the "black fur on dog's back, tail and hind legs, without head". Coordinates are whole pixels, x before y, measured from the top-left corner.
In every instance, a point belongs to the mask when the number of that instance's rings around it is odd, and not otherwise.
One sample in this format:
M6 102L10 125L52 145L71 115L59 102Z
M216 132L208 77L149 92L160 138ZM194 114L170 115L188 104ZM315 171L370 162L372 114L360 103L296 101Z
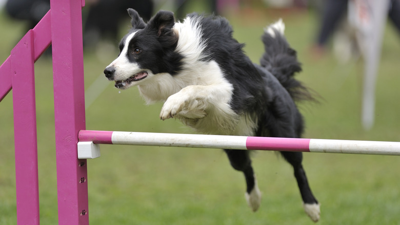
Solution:
M204 52L210 55L225 71L225 78L233 85L231 108L237 114L255 114L258 128L255 136L301 138L304 121L294 100L312 99L310 92L293 78L302 70L296 51L290 48L285 37L275 31L275 37L264 33L265 53L261 66L251 63L243 51L243 44L232 37L229 22L222 17L196 17L207 40ZM225 149L231 165L242 171L246 178L247 193L254 188L254 174L248 151ZM318 203L308 186L302 166L302 153L281 152L293 166L304 203Z

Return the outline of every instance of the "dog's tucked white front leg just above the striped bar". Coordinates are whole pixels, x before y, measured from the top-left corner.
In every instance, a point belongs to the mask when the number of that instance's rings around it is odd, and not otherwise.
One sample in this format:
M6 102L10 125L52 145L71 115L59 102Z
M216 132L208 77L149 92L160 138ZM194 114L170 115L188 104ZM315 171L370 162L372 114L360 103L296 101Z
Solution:
M230 88L219 85L190 85L167 99L161 109L160 118L202 119L212 107L227 105L230 96Z

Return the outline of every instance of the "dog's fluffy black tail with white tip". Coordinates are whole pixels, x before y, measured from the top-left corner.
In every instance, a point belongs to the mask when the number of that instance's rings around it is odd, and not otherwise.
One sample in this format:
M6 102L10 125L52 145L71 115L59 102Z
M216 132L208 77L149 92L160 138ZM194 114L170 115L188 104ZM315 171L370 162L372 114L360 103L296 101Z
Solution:
M278 79L295 101L313 100L309 90L293 78L294 73L302 71L302 67L297 61L296 51L286 41L284 31L282 19L264 29L262 41L265 52L260 60L261 66Z

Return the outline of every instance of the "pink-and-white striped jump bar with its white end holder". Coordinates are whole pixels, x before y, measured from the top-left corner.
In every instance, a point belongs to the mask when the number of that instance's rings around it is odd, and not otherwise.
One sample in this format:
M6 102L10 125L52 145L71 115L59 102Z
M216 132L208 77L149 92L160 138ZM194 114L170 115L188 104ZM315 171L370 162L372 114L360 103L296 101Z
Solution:
M98 157L99 147L97 144L400 155L400 142L81 130L79 132L78 158Z

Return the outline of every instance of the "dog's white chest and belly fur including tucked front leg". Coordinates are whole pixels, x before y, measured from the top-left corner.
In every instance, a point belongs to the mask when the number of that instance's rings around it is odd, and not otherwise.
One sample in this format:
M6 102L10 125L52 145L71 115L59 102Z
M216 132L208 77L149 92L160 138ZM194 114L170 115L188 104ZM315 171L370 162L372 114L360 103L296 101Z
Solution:
M204 134L250 136L254 122L230 107L232 85L215 61L195 62L176 76L157 74L143 82L139 92L148 102L165 101L160 118L177 118Z

